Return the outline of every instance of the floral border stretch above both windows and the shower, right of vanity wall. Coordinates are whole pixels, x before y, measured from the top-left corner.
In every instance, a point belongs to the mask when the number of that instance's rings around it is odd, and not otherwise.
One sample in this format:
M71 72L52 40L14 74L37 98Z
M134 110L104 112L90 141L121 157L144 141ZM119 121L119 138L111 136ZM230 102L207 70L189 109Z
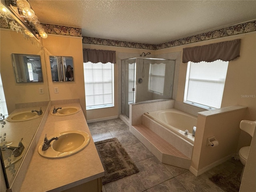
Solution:
M178 40L161 43L158 45L116 41L116 40L108 40L108 39L100 39L100 38L90 38L90 37L83 37L82 42L86 44L158 50L158 49L164 49L168 47L174 47L174 46L179 46L184 44L190 44L190 43L215 39L215 38L232 36L236 34L243 34L243 33L253 32L253 31L256 31L256 20L202 33L202 34L198 34L198 35L189 36L186 38L181 38Z

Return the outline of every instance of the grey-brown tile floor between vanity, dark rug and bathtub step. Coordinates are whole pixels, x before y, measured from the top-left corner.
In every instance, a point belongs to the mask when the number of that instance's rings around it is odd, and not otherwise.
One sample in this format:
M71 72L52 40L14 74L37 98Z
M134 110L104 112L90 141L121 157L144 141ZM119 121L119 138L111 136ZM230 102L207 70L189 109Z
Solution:
M230 160L196 177L189 170L161 163L119 118L88 126L94 142L118 138L140 170L105 184L103 192L224 192L208 178L223 169L236 169Z

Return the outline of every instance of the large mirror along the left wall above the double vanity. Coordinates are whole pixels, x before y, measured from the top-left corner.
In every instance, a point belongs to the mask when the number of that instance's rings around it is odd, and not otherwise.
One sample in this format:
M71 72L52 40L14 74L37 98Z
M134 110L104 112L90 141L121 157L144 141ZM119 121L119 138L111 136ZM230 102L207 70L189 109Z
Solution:
M2 20L1 20L2 27ZM44 47L35 38L25 36L21 32L12 31L6 28L0 28L0 74L1 83L0 88L2 90L0 94L1 105L5 105L5 108L0 108L0 113L5 115L5 118L9 114L16 113L17 110L27 110L28 104L38 104L38 106L32 107L35 110L39 110L42 107L42 111L45 112L50 101L50 94L48 90L48 80L46 75L46 62ZM17 83L15 73L13 70L12 54L26 55L28 59L33 56L33 59L41 60L41 72L44 77L44 81L38 83ZM36 57L34 57L36 56ZM39 67L37 64L35 67ZM40 68L35 68L40 70ZM33 69L32 69L33 70ZM32 71L33 73L33 71ZM36 76L36 74L33 74ZM40 92L40 90L43 90ZM19 107L17 107L17 105ZM4 120L6 124L0 126L0 148L1 148L1 190L3 186L6 188L12 188L15 183L16 177L19 174L20 166L22 162L27 159L26 152L30 146L30 143L38 129L42 117L34 120L28 120L24 122L8 122ZM22 139L24 150L21 156L15 157L10 149L2 151L4 145L11 143L18 146L18 143ZM11 164L10 161L11 160ZM5 176L5 179L2 178ZM3 187L4 188L4 187Z

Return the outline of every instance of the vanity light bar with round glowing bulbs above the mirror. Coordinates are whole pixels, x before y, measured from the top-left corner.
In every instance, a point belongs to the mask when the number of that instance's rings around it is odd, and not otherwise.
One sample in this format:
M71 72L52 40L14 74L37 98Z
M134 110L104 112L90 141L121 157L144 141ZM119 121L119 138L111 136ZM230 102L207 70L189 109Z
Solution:
M25 34L30 37L34 36L37 39L39 37L47 38L46 32L27 0L5 0L5 3L6 8L18 18L20 24L26 26L27 30L25 30Z

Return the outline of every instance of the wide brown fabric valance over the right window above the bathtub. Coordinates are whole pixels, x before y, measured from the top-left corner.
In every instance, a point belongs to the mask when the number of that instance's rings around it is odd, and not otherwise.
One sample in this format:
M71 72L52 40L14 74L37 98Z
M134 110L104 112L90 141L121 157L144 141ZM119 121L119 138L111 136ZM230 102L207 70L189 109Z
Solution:
M240 56L241 39L224 41L203 46L183 48L182 62L213 62L215 60L231 61Z

